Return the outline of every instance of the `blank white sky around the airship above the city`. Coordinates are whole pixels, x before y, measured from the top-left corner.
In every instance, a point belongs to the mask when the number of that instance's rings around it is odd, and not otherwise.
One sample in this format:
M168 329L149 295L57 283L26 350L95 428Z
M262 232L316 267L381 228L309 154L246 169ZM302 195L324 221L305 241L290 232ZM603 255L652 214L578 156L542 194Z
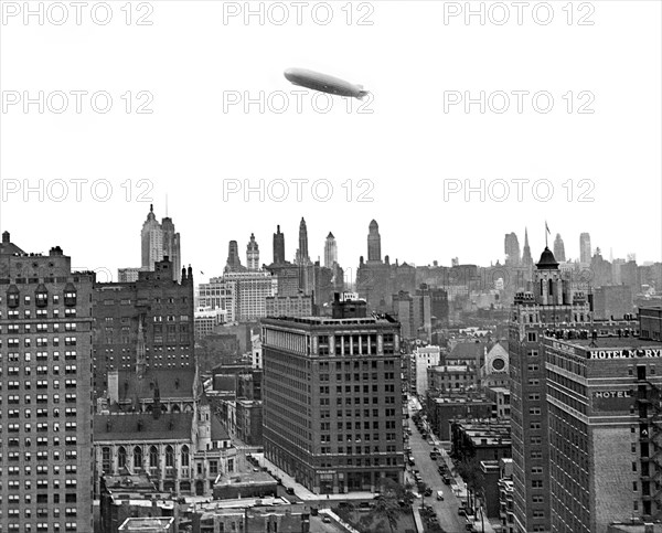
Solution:
M0 231L26 252L115 277L152 203L203 278L252 233L270 263L277 224L291 260L302 216L345 269L373 218L392 262L503 262L525 227L537 259L545 221L570 258L588 232L662 259L660 2L31 4L0 21Z

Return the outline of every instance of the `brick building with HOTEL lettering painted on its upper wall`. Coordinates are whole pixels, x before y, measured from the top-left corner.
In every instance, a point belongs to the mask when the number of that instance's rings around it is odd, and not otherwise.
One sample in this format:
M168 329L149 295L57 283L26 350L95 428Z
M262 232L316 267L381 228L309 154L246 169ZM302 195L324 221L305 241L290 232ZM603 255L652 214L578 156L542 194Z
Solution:
M552 532L608 531L662 512L662 343L637 337L638 326L544 338Z

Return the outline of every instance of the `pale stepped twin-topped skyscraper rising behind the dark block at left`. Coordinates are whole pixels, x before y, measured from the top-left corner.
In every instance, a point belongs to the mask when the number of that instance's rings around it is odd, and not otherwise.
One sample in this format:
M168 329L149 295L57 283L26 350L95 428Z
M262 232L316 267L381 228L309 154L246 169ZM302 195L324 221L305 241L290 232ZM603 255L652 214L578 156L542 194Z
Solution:
M141 268L153 270L157 262L168 257L173 264L173 279L177 281L181 269L180 234L175 232L172 218L166 216L159 224L153 205L150 205L140 232L140 243Z

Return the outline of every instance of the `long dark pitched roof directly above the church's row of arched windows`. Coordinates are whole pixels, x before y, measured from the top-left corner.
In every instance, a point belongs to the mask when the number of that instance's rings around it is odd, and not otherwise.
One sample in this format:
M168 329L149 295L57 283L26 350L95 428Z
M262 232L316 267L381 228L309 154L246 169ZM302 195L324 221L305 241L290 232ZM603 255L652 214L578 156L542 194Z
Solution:
M140 423L140 424L139 424ZM94 416L95 440L189 440L193 413L149 413Z

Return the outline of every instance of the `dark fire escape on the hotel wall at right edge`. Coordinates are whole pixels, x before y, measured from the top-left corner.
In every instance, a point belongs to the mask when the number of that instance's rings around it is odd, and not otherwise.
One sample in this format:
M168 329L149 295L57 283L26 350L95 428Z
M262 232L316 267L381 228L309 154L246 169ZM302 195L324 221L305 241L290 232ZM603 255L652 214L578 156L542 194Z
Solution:
M641 495L644 520L662 519L662 391L637 367L637 405L641 448Z

